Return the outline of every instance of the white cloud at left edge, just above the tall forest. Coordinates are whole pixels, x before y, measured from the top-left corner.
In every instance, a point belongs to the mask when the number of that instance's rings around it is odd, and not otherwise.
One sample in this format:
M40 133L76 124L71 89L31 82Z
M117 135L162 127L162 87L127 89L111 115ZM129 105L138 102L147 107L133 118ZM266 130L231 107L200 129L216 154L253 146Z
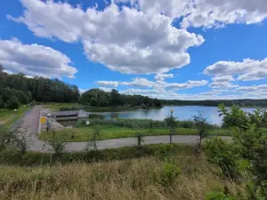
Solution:
M11 73L27 76L74 77L77 68L61 52L38 44L22 44L18 39L0 40L0 63Z

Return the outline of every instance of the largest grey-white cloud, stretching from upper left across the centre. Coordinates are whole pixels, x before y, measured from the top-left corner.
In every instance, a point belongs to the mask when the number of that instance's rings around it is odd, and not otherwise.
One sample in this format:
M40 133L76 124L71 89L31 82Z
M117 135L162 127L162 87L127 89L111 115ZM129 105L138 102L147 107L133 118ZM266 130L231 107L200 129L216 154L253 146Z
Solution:
M187 50L203 36L174 28L173 19L116 4L103 11L53 1L21 0L19 18L36 36L81 41L89 60L125 74L162 74L190 63Z

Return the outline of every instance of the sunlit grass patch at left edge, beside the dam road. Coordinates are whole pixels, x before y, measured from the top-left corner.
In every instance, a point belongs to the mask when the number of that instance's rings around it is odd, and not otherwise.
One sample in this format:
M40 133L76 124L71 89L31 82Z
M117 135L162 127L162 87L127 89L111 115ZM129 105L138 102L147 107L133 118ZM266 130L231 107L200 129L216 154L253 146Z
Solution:
M30 107L20 107L15 112L12 109L0 109L0 126L7 128L20 119Z

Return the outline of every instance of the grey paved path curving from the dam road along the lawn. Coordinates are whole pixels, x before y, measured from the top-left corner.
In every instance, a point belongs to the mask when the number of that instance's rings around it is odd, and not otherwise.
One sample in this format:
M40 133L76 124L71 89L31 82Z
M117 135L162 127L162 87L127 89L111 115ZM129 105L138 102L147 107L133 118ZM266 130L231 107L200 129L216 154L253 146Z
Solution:
M44 141L38 139L37 130L39 123L41 106L35 106L28 115L24 117L23 126L27 127L26 134L28 135L28 150L30 151L39 151L39 152L49 152L51 147L44 148ZM227 139L227 137L222 137ZM174 135L174 143L186 143L193 144L198 140L196 135ZM158 143L168 143L169 136L147 136L144 137L144 144L158 144ZM113 140L101 140L98 141L98 148L121 148L127 146L136 145L135 138L122 138L122 139L113 139ZM67 142L66 151L82 151L84 150L86 142Z

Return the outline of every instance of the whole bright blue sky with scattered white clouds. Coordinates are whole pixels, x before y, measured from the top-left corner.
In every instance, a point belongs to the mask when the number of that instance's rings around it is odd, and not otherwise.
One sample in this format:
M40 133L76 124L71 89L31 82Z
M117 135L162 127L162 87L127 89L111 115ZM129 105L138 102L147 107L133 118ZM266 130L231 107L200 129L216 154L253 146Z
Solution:
M81 92L263 99L265 1L3 1L0 63L8 73L59 78Z

